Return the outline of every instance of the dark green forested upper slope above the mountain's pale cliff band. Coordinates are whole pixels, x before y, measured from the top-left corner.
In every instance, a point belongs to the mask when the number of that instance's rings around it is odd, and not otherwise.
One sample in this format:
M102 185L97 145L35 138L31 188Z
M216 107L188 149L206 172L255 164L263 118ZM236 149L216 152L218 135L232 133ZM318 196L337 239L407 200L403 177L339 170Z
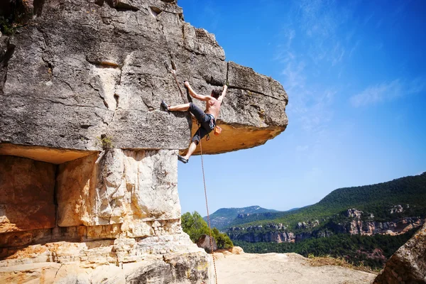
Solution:
M391 213L396 205L405 207L403 212ZM229 226L284 224L288 229L301 230L300 226L297 227L299 222L321 220L320 223L323 223L351 208L373 214L376 222L388 222L396 217L425 216L426 172L376 185L340 188L316 204L285 212L236 218Z

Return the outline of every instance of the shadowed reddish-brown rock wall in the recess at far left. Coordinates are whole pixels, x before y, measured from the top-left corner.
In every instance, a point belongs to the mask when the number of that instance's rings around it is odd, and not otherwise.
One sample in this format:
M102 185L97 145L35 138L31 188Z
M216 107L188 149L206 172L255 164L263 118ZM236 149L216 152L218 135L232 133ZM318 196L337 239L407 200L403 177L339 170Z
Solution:
M0 234L55 226L55 165L0 156Z

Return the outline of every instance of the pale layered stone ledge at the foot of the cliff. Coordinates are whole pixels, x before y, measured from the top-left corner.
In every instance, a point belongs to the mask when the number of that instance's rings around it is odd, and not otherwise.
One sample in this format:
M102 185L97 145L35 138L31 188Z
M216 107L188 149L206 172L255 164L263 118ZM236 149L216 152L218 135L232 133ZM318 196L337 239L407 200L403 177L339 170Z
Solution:
M58 232L60 234L60 232ZM9 251L1 283L204 283L212 259L187 234L47 243Z

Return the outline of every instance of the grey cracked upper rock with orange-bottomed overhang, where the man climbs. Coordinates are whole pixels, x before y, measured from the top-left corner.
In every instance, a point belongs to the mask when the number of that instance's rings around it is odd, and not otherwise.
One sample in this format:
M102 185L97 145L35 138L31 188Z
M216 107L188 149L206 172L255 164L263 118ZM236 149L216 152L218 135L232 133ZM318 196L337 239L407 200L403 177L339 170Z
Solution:
M172 62L200 94L229 82L224 137L204 143L206 153L261 145L288 123L283 87L226 62L214 35L185 23L174 1L45 0L0 44L3 143L95 151L104 135L116 148L184 150L190 116L160 111L161 99L183 103L164 65Z

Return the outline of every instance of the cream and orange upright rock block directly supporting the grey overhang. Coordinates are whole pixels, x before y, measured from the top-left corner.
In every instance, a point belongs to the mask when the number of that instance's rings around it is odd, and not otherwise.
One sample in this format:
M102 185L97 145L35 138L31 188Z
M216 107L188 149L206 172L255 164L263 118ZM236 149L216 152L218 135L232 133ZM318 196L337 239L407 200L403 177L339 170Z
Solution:
M61 164L58 226L121 224L132 238L178 226L176 153L114 149Z

